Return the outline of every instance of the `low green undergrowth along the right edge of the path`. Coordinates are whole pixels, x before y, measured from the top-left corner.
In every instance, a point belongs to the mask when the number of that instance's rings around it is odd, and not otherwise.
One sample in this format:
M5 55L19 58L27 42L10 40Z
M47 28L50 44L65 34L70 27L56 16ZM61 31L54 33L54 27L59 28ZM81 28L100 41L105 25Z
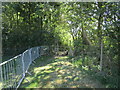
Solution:
M88 61L89 59L89 61ZM75 66L84 70L87 74L91 76L92 79L100 81L106 88L118 88L120 85L119 80L120 76L118 76L118 68L111 70L112 74L106 74L104 71L99 70L99 65L92 64L91 58L87 57L84 59L84 66L83 66L83 59L80 56L71 58L71 61ZM92 60L95 60L94 58ZM106 69L108 70L108 69Z

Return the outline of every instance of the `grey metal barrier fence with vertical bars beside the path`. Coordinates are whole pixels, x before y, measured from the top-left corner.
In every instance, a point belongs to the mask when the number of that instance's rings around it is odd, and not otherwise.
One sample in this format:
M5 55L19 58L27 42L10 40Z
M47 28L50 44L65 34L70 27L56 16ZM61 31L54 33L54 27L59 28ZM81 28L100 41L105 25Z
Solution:
M22 54L15 56L0 64L0 89L18 88L28 73L29 66L34 60L44 55L46 46L27 49Z

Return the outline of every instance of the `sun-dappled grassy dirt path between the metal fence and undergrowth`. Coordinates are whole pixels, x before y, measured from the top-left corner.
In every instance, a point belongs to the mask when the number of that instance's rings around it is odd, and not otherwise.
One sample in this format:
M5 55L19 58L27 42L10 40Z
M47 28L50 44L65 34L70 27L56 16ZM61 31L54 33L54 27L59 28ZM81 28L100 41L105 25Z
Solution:
M104 88L80 67L76 67L67 56L45 57L31 65L20 88Z

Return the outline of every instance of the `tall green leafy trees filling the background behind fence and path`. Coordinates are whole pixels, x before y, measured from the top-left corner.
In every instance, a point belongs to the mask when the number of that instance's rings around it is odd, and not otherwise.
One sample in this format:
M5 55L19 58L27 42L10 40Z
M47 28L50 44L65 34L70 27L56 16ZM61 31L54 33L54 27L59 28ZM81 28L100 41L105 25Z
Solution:
M60 46L73 53L71 59L80 57L73 60L75 65L99 72L103 43L103 71L112 73L112 65L120 66L119 4L3 2L3 56L15 56L41 45L51 47L52 53ZM112 82L101 77L104 80Z

